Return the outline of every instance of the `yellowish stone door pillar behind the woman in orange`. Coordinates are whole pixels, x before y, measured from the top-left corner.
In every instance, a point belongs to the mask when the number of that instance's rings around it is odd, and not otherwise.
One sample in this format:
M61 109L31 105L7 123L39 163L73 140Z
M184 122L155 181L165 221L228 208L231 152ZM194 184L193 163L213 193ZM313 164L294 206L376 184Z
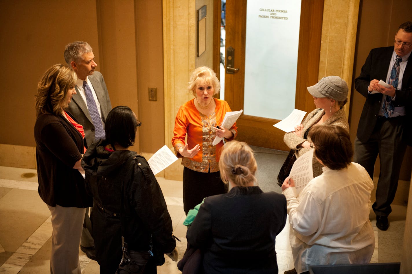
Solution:
M165 144L171 148L176 113L192 99L187 92L190 73L195 68L196 10L191 0L163 0L164 126ZM180 160L165 170L164 177L181 180Z

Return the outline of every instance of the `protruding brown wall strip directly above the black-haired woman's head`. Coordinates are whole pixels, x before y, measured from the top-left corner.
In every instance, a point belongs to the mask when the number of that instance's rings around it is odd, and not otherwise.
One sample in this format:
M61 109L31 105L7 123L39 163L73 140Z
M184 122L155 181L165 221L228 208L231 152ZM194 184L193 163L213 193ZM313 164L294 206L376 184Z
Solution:
M134 1L97 0L101 66L112 107L126 105L138 114ZM137 132L139 138L140 128ZM132 150L139 151L136 142Z

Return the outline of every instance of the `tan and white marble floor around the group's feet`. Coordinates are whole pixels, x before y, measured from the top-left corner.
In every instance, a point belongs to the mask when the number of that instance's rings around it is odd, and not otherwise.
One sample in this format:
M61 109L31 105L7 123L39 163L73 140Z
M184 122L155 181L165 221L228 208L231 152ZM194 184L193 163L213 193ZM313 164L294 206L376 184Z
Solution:
M261 171L262 172L262 171ZM173 222L173 234L178 242L179 260L186 248L186 227L183 225L182 182L157 178L164 193ZM370 219L375 230L375 253L372 262L399 262L405 230L406 206L393 206L389 230L375 226L375 215ZM0 273L49 273L51 250L50 211L37 193L37 171L0 167ZM279 273L293 268L288 240L289 224L276 237ZM96 261L80 251L82 273L99 273ZM157 267L158 273L180 273L176 262L166 256L166 263Z

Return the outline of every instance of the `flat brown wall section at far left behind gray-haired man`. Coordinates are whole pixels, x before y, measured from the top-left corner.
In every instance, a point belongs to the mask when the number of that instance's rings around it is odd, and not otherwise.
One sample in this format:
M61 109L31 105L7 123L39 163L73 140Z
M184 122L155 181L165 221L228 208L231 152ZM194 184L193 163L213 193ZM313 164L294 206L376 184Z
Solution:
M64 46L76 40L88 41L98 65L101 61L96 2L16 0L0 5L0 144L35 146L34 95L42 74L56 63L65 63ZM84 19L79 20L79 14Z

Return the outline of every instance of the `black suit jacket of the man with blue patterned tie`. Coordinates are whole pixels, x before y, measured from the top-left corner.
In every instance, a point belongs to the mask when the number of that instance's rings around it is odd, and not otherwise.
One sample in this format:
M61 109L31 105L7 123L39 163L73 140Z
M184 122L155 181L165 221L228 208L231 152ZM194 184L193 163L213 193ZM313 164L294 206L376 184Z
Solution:
M355 79L356 90L366 98L356 136L361 142L367 142L377 121L379 109L382 107L382 93L369 94L368 86L373 79L386 81L391 62L393 46L372 49L362 67L361 74ZM409 58L411 59L411 58ZM412 63L408 60L402 78L402 90L396 91L395 107L405 106L406 121L412 119ZM407 136L410 136L408 134Z

